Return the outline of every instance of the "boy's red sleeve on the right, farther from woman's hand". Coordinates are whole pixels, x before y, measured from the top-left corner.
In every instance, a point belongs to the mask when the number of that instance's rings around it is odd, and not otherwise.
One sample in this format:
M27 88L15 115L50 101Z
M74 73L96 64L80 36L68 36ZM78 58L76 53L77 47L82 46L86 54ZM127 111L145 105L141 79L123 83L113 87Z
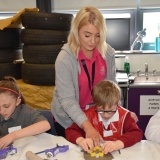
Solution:
M124 143L124 148L130 147L142 140L143 132L137 126L135 120L131 117L130 112L127 113L123 125L123 134L119 138Z

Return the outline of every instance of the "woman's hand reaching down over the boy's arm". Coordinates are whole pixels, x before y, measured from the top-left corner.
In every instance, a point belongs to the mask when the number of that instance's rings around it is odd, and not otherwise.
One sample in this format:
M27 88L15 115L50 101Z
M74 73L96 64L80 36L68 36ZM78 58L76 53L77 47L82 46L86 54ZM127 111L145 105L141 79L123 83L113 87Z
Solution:
M86 138L91 138L95 147L100 145L100 141L103 142L101 135L88 120L82 124L82 128L86 133Z

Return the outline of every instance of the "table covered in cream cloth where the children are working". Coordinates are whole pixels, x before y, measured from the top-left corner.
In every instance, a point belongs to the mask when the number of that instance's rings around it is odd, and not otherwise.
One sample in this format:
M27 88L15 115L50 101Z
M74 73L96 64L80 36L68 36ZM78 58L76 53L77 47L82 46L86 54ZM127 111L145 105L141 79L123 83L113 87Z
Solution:
M36 136L30 136L16 140L13 143L14 147L17 147L18 152L14 155L8 155L6 160L27 160L25 153L32 151L34 153L56 147L56 144L69 145L69 150L65 153L58 153L50 160L85 160L83 152L80 147L68 142L63 137L53 136L47 133L39 134ZM114 160L159 160L160 158L160 144L142 140L141 142L121 149L121 154L118 151L112 152ZM44 153L39 154L41 158L46 158ZM100 158L99 158L100 159ZM98 160L98 159L97 159Z

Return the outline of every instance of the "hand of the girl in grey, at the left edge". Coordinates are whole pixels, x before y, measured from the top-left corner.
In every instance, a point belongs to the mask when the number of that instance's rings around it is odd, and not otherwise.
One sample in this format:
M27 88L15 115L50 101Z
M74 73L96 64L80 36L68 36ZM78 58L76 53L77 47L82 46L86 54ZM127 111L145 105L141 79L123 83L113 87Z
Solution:
M9 144L11 144L14 140L14 134L8 134L0 139L0 149L6 148Z

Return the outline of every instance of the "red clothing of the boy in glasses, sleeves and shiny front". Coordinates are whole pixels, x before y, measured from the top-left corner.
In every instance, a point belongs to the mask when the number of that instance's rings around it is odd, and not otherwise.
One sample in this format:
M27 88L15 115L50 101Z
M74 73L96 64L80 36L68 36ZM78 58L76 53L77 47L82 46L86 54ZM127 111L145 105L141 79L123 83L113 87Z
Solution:
M95 111L95 107L91 107L84 111L89 121L93 127L99 131L102 138L107 141L120 140L124 143L124 148L134 145L135 143L142 140L143 132L138 128L135 120L131 117L130 112L120 106L118 106L119 120L117 122L112 122L109 124L107 130L117 130L112 136L104 137L103 131L104 127L102 122L98 120L98 113ZM114 128L113 128L114 126ZM85 132L73 123L66 130L66 139L74 144L76 144L76 139L78 137L85 137Z

